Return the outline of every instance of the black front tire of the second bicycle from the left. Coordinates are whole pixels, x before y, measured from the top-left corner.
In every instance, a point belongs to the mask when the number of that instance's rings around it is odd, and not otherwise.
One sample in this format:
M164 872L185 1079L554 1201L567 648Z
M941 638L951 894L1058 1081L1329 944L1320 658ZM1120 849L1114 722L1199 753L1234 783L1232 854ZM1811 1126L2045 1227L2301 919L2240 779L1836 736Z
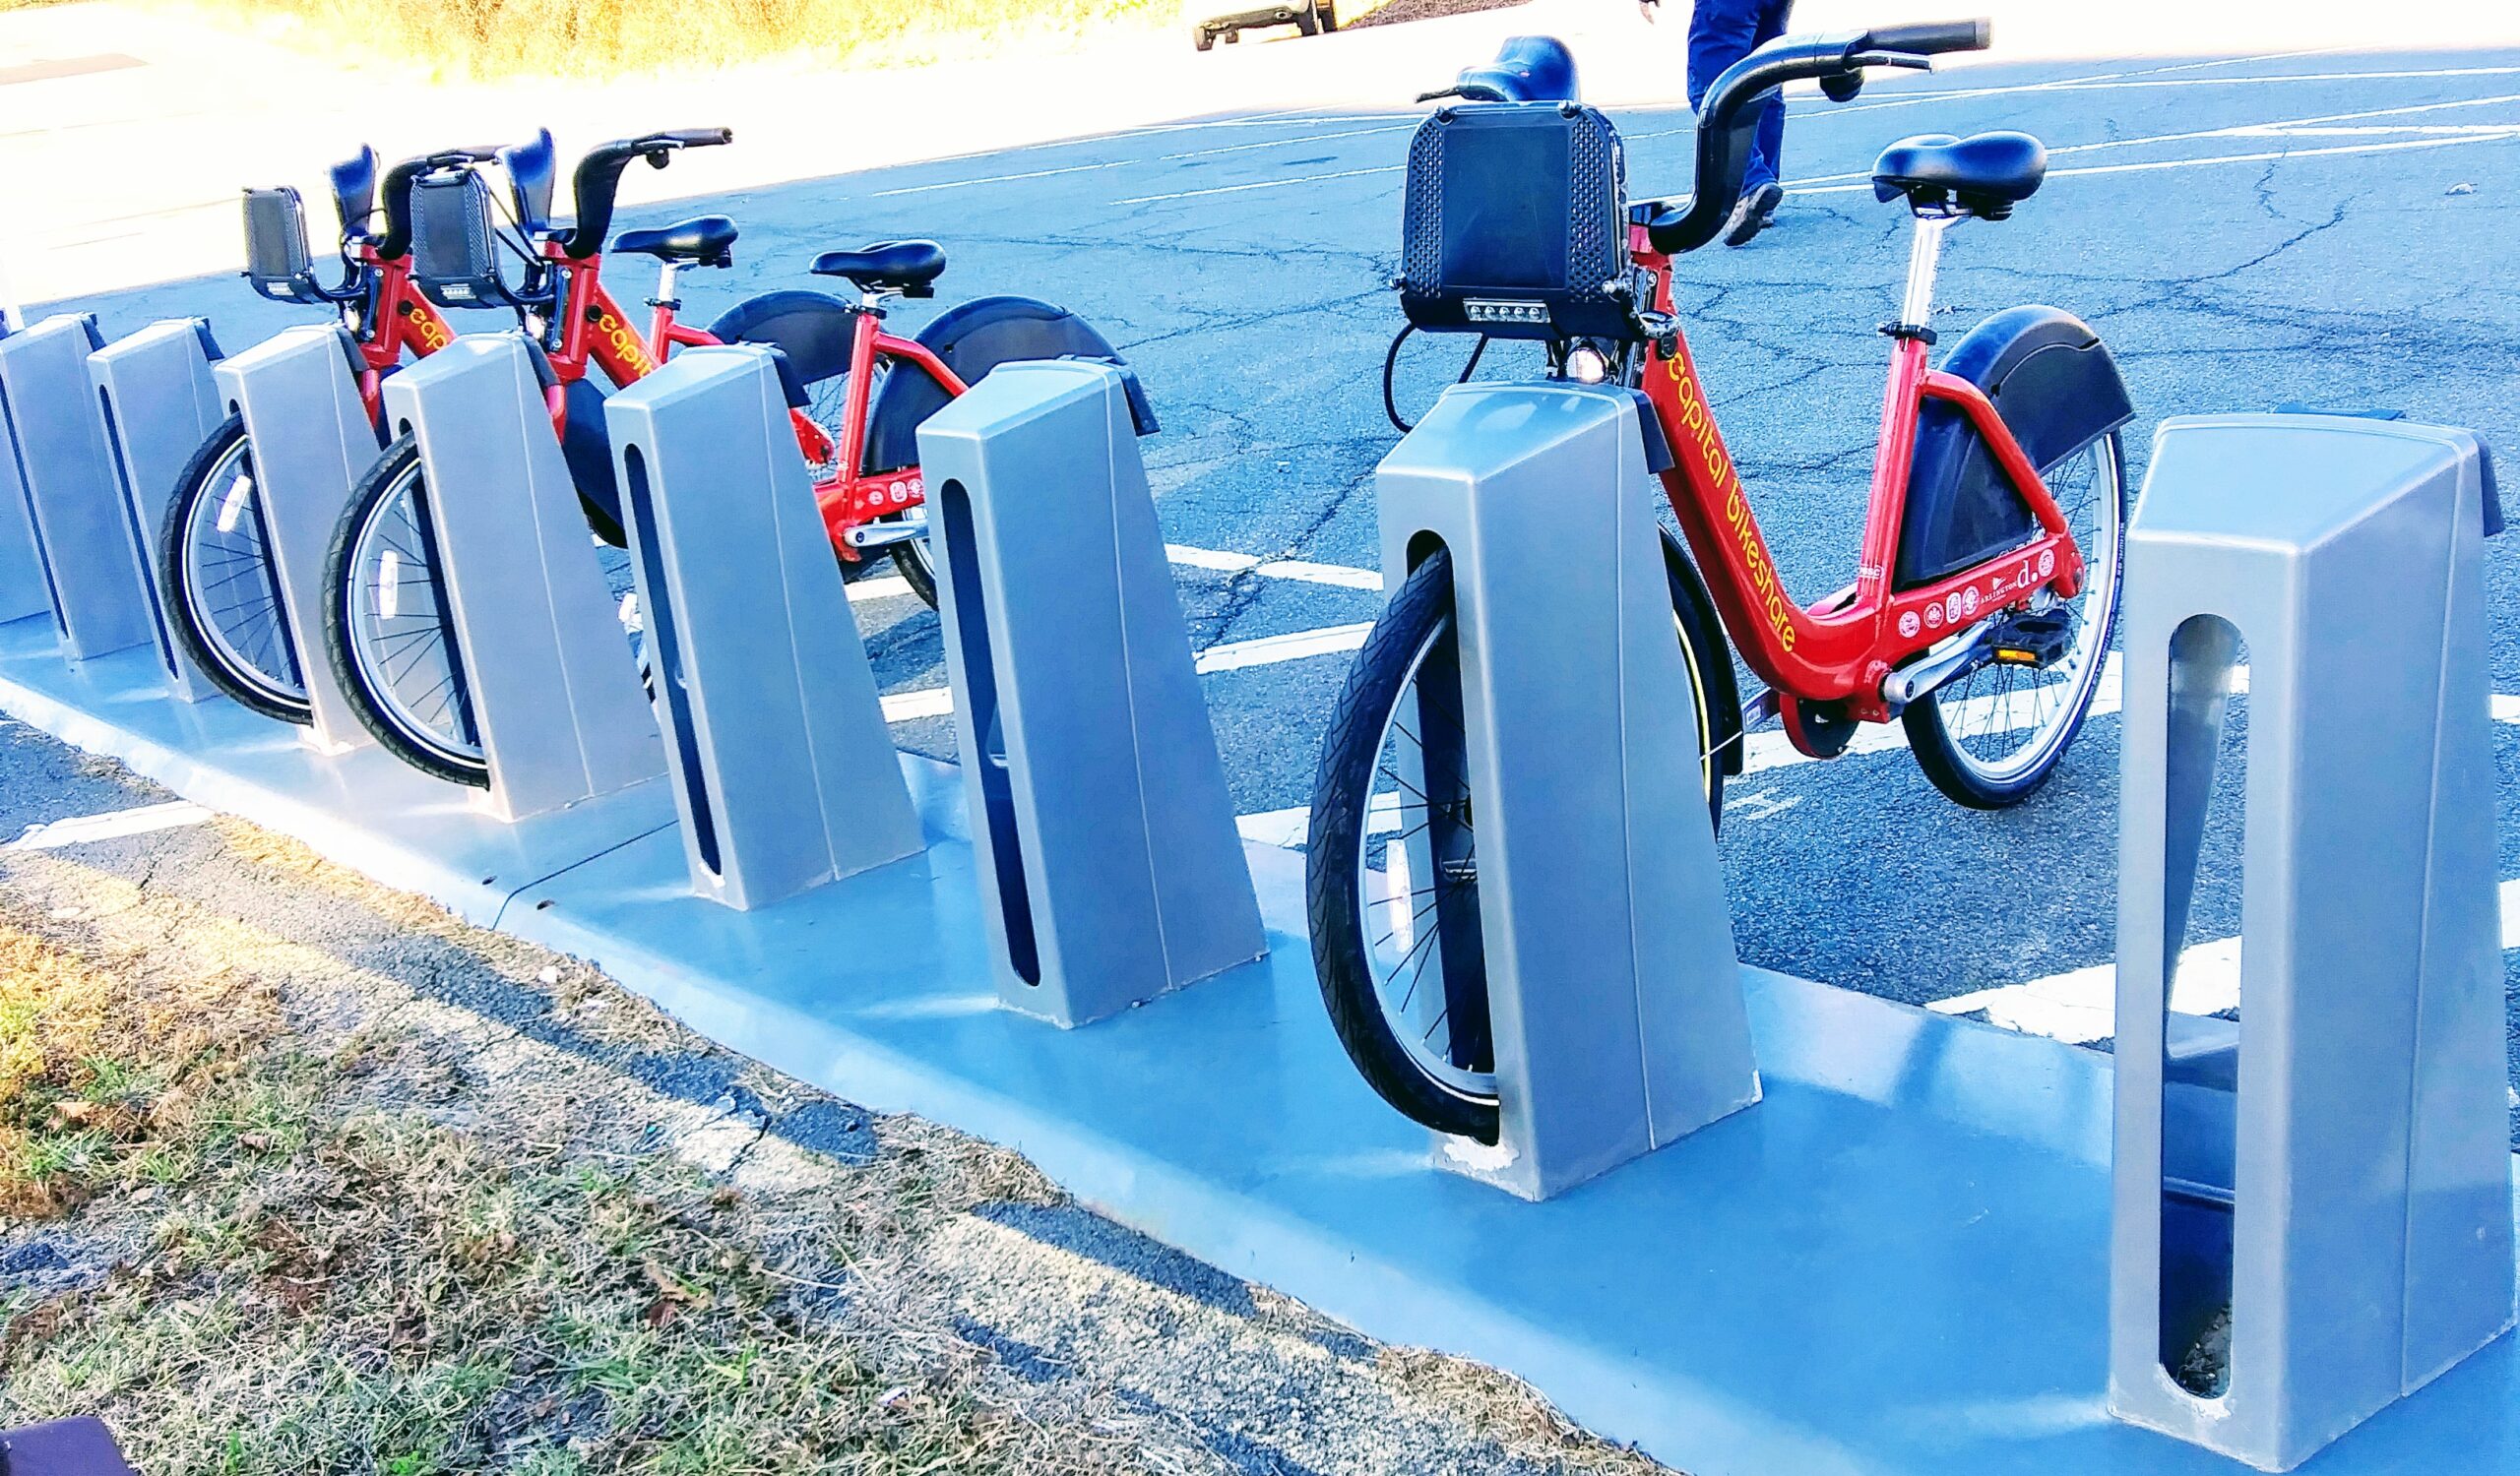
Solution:
M466 751L431 733L388 690L391 680L386 680L386 673L370 670L368 645L358 640L360 597L365 589L355 567L358 549L365 547L370 526L386 516L391 501L406 486L426 499L421 476L421 448L411 436L401 436L393 446L386 446L383 456L350 489L350 504L333 529L333 549L325 557L325 657L333 667L333 680L340 683L343 698L348 698L353 715L358 715L358 725L386 753L433 778L489 788L489 758L479 743L471 743ZM428 544L423 549L428 554L426 564L433 567L426 506L416 509L411 521L423 544ZM474 730L471 693L464 685L461 652L456 650L454 630L446 625L444 607L431 610L428 620L436 620L441 627L438 640L444 642L451 678L449 703L459 708L461 728Z

